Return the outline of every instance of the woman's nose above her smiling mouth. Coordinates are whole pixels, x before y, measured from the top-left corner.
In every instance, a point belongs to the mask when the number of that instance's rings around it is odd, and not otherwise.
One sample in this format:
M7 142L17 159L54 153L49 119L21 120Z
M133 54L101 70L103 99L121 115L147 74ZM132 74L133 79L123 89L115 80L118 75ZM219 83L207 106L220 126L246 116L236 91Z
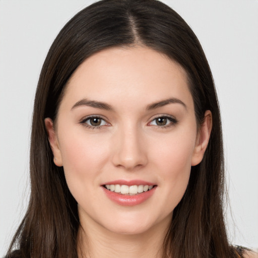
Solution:
M127 127L115 133L111 147L114 166L132 171L147 164L147 146L140 131Z

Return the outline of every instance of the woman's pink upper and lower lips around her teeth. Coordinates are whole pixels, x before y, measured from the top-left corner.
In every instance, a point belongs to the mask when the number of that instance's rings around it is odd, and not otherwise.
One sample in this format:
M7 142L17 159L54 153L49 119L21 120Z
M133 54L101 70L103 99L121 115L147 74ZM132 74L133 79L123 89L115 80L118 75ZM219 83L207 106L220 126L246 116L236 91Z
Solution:
M110 181L106 182L104 184L125 184L125 185L154 185L151 182L147 181L142 181L142 180L131 180L131 181L126 181L126 180L115 180L115 181ZM122 205L122 206L134 206L134 205L139 205L143 202L145 202L147 199L149 199L153 193L155 192L157 187L153 187L151 190L138 193L135 196L130 196L130 195L121 195L120 193L116 193L114 191L110 191L106 189L104 186L102 187L104 190L104 193L106 196L113 202Z

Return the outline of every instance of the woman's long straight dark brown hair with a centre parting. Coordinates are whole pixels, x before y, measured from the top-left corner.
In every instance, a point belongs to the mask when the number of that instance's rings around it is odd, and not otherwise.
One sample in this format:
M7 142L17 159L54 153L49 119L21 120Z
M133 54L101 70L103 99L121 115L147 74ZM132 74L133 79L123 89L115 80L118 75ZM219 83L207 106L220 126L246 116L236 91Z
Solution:
M74 16L46 56L35 95L31 149L31 196L11 243L19 257L77 257L80 221L62 167L53 163L44 118L56 118L69 78L89 56L111 46L141 44L166 54L186 71L200 125L211 110L213 128L202 162L191 168L184 196L173 212L163 256L238 257L228 243L223 217L224 160L220 111L204 51L189 26L155 0L104 0Z

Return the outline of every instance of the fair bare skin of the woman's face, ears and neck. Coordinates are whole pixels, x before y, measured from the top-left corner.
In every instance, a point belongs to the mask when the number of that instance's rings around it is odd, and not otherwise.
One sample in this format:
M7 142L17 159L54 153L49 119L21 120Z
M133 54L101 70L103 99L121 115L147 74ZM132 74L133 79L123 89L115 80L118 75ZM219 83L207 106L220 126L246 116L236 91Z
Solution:
M148 109L168 98L184 104ZM105 102L112 110L73 108L82 99ZM103 118L99 127L93 128L90 115ZM184 70L147 47L102 50L75 71L55 124L46 118L45 125L54 162L63 166L78 202L78 248L91 257L160 257L173 210L191 166L203 158L212 128L210 111L197 126ZM118 179L141 179L157 187L142 204L121 206L107 198L102 186Z

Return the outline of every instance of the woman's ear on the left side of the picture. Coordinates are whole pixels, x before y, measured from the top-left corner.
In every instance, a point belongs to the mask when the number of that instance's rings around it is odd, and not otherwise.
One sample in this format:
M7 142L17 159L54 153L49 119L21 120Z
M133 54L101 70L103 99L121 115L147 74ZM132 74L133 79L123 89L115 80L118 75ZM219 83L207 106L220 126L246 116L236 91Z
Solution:
M59 149L59 144L57 140L57 136L54 130L53 121L47 117L45 118L45 127L48 135L48 141L54 155L54 164L58 167L62 166L62 156Z

